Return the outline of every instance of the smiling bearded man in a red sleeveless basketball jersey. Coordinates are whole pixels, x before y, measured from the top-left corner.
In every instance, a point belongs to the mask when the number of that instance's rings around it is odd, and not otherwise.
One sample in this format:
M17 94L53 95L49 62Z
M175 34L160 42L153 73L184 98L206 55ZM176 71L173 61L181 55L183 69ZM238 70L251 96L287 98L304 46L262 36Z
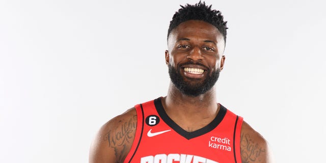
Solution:
M270 162L266 141L216 103L226 22L199 2L173 16L165 51L166 97L145 102L99 130L90 162Z

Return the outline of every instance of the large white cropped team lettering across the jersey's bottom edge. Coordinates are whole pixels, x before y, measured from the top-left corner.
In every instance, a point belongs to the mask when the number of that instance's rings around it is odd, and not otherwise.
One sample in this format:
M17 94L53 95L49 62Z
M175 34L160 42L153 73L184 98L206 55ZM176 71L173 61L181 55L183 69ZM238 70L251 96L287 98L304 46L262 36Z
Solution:
M156 154L155 156L145 156L141 158L141 163L173 163L180 161L180 163L219 163L205 157L190 155L190 154Z

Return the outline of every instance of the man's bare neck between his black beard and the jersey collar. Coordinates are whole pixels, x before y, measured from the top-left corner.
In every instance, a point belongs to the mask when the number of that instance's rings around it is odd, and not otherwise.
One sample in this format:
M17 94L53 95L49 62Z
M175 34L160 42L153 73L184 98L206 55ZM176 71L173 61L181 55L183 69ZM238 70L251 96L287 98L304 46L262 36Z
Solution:
M172 83L168 95L162 98L168 116L184 130L191 132L210 123L218 114L215 86L206 93L193 97L182 94Z

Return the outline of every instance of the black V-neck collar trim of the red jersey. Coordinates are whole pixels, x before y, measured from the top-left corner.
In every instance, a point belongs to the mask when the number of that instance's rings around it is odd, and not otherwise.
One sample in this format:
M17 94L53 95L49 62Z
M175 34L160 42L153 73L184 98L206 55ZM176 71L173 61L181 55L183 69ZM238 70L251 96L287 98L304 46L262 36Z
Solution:
M221 105L221 108L220 108L220 111L219 111L218 115L216 115L214 120L211 121L207 126L201 128L201 129L198 129L196 131L193 131L193 132L187 132L186 130L182 129L179 125L177 125L167 115L167 113L165 112L164 107L162 105L160 97L154 100L154 104L155 104L155 107L156 107L156 111L157 111L158 115L161 117L161 119L165 123L167 123L172 129L174 129L177 133L179 133L182 137L184 137L187 140L199 137L200 135L203 135L203 134L213 130L223 120L223 118L224 118L224 116L226 114L226 111L227 111L226 108Z

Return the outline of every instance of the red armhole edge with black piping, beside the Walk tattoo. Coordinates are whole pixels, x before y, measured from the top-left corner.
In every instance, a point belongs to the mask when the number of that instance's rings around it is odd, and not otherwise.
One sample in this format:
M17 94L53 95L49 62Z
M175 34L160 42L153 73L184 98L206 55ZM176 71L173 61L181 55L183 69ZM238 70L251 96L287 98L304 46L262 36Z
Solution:
M136 132L134 135L134 139L131 145L131 149L129 153L127 154L125 160L123 161L124 163L131 162L133 156L137 152L138 146L142 140L142 134L143 134L143 129L144 129L144 111L143 111L143 106L142 104L135 105L135 110L137 113L137 128Z

